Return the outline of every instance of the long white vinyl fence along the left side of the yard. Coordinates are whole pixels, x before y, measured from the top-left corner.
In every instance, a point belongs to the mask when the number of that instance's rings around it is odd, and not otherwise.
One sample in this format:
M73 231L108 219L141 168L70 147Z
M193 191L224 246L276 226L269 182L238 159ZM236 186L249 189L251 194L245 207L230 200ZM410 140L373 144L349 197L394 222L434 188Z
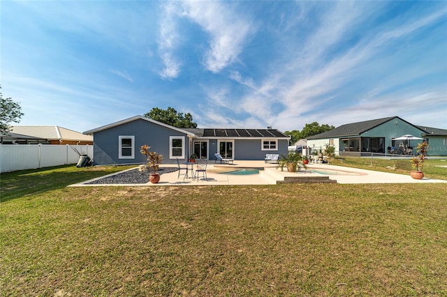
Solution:
M93 159L89 145L0 144L0 172L76 164L79 155L73 148Z

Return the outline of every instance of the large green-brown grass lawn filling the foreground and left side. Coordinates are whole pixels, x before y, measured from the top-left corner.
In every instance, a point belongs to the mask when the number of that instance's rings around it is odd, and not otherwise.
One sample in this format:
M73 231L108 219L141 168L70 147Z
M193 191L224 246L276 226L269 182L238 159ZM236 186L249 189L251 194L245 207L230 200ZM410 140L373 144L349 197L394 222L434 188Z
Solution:
M1 174L1 296L447 296L445 184L89 187Z

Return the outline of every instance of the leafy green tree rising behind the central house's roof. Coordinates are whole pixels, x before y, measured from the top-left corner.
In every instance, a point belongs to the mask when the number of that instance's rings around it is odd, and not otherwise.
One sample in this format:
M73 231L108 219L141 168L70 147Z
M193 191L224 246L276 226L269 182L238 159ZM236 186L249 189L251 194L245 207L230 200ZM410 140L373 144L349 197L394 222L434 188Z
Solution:
M144 116L177 128L197 128L197 123L193 122L193 116L189 112L183 114L177 112L173 107L168 107L168 109L154 107Z

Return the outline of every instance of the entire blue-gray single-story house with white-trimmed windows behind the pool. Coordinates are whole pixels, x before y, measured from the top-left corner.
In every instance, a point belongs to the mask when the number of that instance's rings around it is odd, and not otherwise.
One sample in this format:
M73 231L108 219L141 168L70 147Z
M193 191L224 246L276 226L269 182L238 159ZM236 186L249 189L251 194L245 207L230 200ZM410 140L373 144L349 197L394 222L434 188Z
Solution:
M133 116L84 132L94 137L94 164L146 162L140 146L163 154L163 164L186 161L193 153L214 160L214 153L234 160L264 160L266 153L287 153L290 137L276 129L189 129Z

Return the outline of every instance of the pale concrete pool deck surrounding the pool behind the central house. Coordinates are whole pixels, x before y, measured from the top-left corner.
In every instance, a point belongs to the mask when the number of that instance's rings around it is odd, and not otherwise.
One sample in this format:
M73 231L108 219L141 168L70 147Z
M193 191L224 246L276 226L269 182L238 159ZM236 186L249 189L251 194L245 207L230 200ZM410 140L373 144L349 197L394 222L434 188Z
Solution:
M163 165L164 167L177 167L177 165ZM212 169L219 169L219 167L231 168L264 168L260 170L259 174L249 175L233 175L233 174L218 174L212 172ZM307 170L320 169L331 170L336 174L328 175L330 179L337 181L337 183L447 183L447 181L423 178L422 180L415 180L409 174L393 174L387 172L375 172L372 170L356 169L351 167L341 167L330 164L309 164ZM286 176L324 176L318 173L311 172L287 172L277 168L276 164L266 164L263 161L235 161L234 165L214 164L213 161L208 163L207 179L199 178L193 181L192 178L183 179L183 176L177 178L178 173L172 172L169 174L162 174L159 183L140 183L140 184L115 184L120 186L162 186L162 185L275 185L277 181L284 181ZM104 177L104 176L102 176ZM99 178L95 178L99 179ZM92 181L92 180L89 180ZM86 186L110 186L104 184L87 185L89 181L69 185L69 187L86 187Z

